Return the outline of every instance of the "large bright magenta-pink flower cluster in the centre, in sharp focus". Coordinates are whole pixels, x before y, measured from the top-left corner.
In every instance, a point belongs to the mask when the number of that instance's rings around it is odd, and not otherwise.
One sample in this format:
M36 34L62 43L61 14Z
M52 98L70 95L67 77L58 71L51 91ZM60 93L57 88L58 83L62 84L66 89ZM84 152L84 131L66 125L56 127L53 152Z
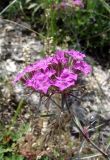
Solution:
M49 94L70 90L79 75L88 75L91 66L84 61L85 54L75 50L57 50L54 56L46 57L28 65L19 73L14 83L22 81L40 93Z

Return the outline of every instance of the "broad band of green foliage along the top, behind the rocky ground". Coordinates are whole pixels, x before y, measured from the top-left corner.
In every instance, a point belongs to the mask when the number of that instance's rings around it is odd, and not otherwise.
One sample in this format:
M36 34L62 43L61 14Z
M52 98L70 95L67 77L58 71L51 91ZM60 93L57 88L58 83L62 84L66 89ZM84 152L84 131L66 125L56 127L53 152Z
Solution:
M104 0L85 0L84 8L54 10L53 1L17 0L5 13L18 15L31 22L42 34L48 32L55 44L67 43L77 49L109 46L110 5ZM59 0L54 1L58 4ZM21 11L21 12L19 12ZM48 12L48 13L47 13ZM46 13L49 14L46 17Z

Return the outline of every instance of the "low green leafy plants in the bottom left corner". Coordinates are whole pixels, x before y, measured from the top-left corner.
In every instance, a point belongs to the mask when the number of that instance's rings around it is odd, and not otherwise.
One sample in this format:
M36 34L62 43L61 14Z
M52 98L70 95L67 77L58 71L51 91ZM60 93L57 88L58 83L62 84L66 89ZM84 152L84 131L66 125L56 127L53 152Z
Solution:
M0 126L0 160L25 160L17 153L17 143L28 129L28 124L21 125L17 132Z

